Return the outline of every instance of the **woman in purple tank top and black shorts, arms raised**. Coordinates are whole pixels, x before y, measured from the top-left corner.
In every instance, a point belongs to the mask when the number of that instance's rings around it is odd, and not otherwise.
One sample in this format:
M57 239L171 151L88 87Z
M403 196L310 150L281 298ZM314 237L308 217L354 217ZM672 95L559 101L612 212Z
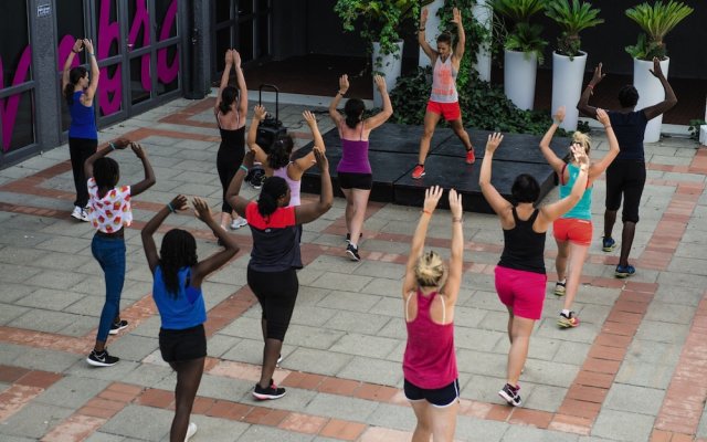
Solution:
M346 197L346 253L352 261L359 261L358 240L363 230L368 197L373 187L371 164L368 160L368 137L371 130L382 125L393 115L390 104L386 78L380 75L373 77L378 91L383 98L383 109L363 119L366 105L360 98L349 98L344 105L346 118L339 114L339 101L349 90L348 75L339 78L339 92L329 104L329 116L334 120L341 138L341 160L336 168L339 187Z

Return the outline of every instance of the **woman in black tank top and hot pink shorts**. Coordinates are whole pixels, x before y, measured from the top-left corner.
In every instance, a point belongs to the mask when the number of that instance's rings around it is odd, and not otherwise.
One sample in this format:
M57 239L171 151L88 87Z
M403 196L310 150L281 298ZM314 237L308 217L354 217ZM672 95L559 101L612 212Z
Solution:
M478 185L504 231L504 251L496 265L495 277L498 298L508 309L510 349L506 385L498 394L508 404L518 407L523 402L518 379L528 356L532 327L542 315L545 302L545 233L552 221L574 207L582 197L587 188L589 158L583 149L572 147L580 167L571 193L539 209L535 204L540 196L540 185L530 175L519 175L510 189L514 204L496 190L490 179L494 152L503 138L500 134L488 136Z

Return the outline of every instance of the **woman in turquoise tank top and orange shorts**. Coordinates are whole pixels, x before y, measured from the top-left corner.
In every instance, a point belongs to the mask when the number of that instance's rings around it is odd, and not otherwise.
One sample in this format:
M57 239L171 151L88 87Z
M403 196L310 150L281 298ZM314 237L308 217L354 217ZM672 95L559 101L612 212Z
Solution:
M555 123L552 123L552 126L550 126L540 141L540 150L545 159L547 159L560 179L560 198L564 198L570 193L579 176L580 168L573 157L570 157L570 161L566 164L550 149L552 136L563 119L564 107L560 107L555 114ZM555 241L557 241L555 266L558 282L555 285L555 294L558 296L564 295L564 306L557 320L557 325L561 328L577 327L579 325L577 314L570 308L572 308L572 302L579 290L579 280L582 276L582 266L587 260L587 252L592 243L592 185L619 155L619 140L611 127L609 115L603 109L597 109L597 119L604 125L606 130L609 151L599 161L590 164L587 189L582 194L582 199L569 212L555 220L552 224L552 233ZM576 131L572 136L572 146L581 147L589 156L590 139L585 134Z

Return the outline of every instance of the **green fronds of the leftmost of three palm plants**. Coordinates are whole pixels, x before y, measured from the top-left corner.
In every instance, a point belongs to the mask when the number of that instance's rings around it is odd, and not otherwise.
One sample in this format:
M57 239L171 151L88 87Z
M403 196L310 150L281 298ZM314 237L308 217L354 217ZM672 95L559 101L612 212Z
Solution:
M494 12L505 17L514 23L508 31L505 48L509 51L535 53L542 64L542 51L548 42L541 36L542 27L530 23L530 18L542 11L548 0L492 0Z

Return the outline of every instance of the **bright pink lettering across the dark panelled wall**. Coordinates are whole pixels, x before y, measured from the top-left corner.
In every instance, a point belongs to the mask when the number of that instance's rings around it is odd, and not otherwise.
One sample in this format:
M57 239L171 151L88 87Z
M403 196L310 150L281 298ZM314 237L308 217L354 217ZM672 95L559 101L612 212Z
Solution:
M98 41L97 41L97 57L103 60L108 57L110 44L116 42L120 44L120 29L117 21L110 21L110 4L115 0L101 0L101 15L98 18ZM158 41L166 40L170 36L170 33L175 27L178 9L178 0L172 0L165 14ZM150 23L149 13L147 9L147 0L136 1L137 10L133 22L130 23L130 30L128 32L128 43L135 44L139 36L140 30L143 30L141 45L150 44ZM68 57L71 50L74 45L76 38L72 35L64 35L57 46L57 71L62 71L64 62ZM7 87L17 86L28 81L30 73L30 66L32 64L32 51L31 45L28 45L20 61L17 65L14 77ZM74 57L72 67L80 65L80 57ZM101 83L98 87L98 103L102 115L110 115L120 110L120 102L123 99L123 77L122 77L122 63L115 65L116 69L113 75L109 75L107 67L101 69ZM2 59L0 59L0 90L6 87L3 78ZM171 64L168 60L168 49L163 48L157 51L157 77L162 83L171 83L177 78L179 74L179 56L175 56ZM145 54L140 57L140 84L145 91L151 91L151 75L150 75L150 55ZM12 134L14 131L14 125L17 122L18 110L20 107L21 94L12 95L8 98L0 99L0 120L2 122L2 150L8 151L12 141Z

